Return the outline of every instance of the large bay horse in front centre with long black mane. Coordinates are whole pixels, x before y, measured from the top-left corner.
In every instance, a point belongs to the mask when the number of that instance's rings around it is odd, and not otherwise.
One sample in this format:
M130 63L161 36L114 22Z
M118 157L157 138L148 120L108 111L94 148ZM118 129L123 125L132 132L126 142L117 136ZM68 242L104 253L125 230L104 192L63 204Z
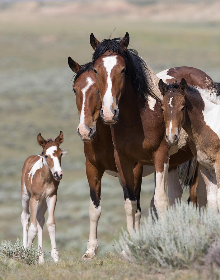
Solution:
M100 114L105 124L110 124L115 161L123 184L127 228L135 229L135 162L155 166L154 203L160 213L168 206L169 147L165 141L165 125L160 109L159 79L136 51L127 49L128 33L124 38L105 39L101 43L91 34L90 42L95 49L93 64L102 101ZM182 150L177 149L176 154L171 156L170 166L192 157L186 139L187 136Z

